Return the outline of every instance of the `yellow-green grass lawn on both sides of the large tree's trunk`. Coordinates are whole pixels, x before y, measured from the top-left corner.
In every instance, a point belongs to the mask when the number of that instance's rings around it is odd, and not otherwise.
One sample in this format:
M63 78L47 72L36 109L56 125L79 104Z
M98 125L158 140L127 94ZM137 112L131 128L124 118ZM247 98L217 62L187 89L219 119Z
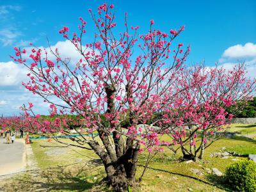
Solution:
M233 129L238 129L234 125ZM240 127L241 129L248 129ZM173 154L166 149L156 155L150 163L140 188L132 191L230 191L227 186L221 184L220 179L207 173L207 169L218 168L225 172L225 168L235 161L232 159L244 159L243 157L210 157L212 152L218 152L222 147L229 151L243 154L256 154L256 141L242 137L233 139L222 138L213 143L205 150L204 161L186 163L180 161L180 152ZM19 176L0 182L0 189L16 188L20 186L23 190L35 189L40 191L109 191L101 184L106 175L104 167L100 164L99 157L92 150L77 147L54 147L47 148L42 145L56 145L47 140L33 140L31 144L35 159L40 170L23 173ZM58 144L59 145L59 144ZM144 152L140 155L138 164L143 164L147 157ZM202 175L191 172L191 168L198 169ZM142 167L138 166L136 177L139 178ZM217 186L214 186L214 184Z

